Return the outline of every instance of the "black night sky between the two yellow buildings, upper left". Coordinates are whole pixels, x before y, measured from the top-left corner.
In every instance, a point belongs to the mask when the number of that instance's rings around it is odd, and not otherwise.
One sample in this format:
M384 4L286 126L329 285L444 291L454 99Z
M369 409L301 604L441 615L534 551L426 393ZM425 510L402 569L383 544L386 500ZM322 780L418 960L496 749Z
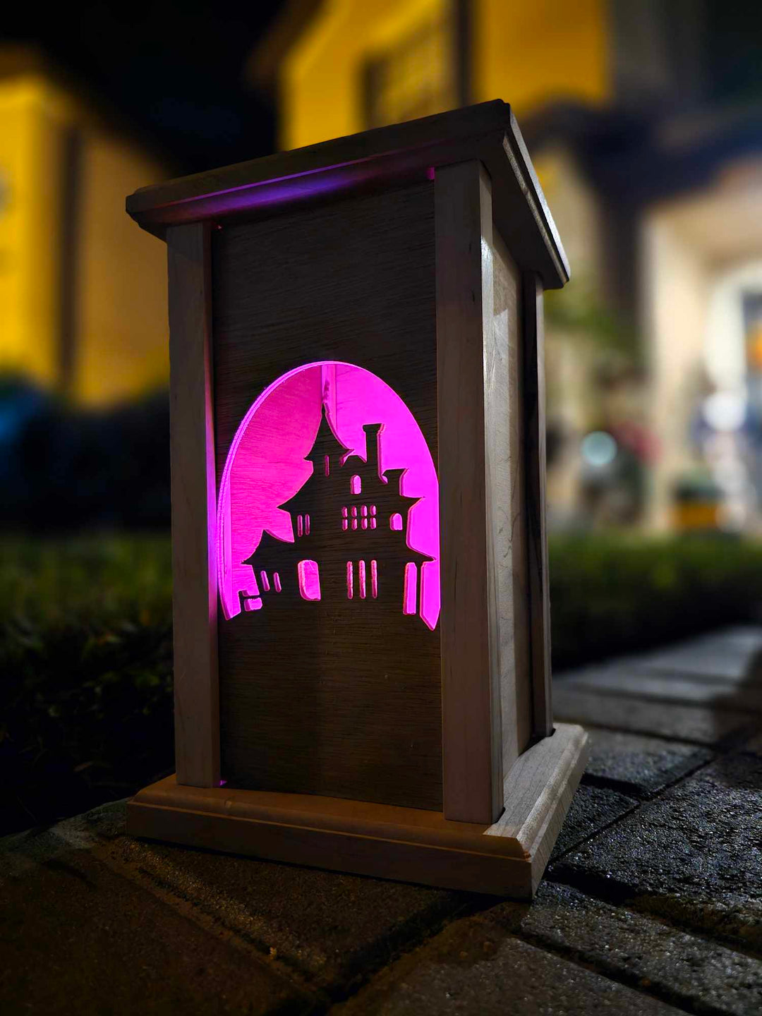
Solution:
M123 118L178 173L267 154L271 97L244 80L244 65L281 0L158 0L143 4L17 4L2 43L38 46Z

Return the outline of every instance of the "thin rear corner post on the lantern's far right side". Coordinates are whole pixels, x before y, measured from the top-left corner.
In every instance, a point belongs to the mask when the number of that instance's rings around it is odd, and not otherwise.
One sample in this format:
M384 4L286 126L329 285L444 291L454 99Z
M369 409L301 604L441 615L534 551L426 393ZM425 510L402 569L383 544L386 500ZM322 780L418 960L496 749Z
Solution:
M529 630L531 651L532 729L535 737L553 732L551 701L551 597L546 521L546 414L543 283L523 276L524 351L526 356L526 502L528 521Z

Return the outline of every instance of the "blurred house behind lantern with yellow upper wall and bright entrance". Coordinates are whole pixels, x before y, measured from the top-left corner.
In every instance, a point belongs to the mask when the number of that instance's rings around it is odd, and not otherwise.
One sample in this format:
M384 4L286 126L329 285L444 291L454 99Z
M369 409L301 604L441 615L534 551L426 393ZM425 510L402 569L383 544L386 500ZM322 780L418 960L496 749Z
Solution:
M761 12L294 0L251 57L282 148L511 103L572 264L549 300L559 523L759 528Z

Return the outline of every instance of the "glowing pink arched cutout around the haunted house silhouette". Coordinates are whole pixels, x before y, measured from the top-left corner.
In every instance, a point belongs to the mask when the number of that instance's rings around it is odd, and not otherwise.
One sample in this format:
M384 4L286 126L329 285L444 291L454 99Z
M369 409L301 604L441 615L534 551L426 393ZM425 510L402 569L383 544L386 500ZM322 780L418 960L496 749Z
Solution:
M324 393L331 427L351 452L366 457L363 425L383 425L380 470L405 469L401 493L421 499L408 513L406 544L433 559L422 569L420 612L434 628L440 607L439 490L431 453L412 414L385 382L370 371L335 361L307 364L279 377L252 403L236 432L217 501L217 570L225 617L240 613L240 591L258 591L251 565L241 562L251 557L262 533L287 543L297 535L288 512L278 506L311 473L305 455L320 425ZM401 517L396 528L402 528Z

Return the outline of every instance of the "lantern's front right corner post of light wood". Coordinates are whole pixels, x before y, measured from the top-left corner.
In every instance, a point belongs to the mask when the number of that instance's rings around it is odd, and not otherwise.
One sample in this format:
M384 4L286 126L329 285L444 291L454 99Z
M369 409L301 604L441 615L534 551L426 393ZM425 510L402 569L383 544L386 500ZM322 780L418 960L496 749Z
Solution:
M435 178L437 389L442 568L443 806L448 819L492 823L503 807L496 548L488 483L494 392L491 184L478 161ZM487 406L490 405L488 409ZM490 515L488 516L488 512Z

